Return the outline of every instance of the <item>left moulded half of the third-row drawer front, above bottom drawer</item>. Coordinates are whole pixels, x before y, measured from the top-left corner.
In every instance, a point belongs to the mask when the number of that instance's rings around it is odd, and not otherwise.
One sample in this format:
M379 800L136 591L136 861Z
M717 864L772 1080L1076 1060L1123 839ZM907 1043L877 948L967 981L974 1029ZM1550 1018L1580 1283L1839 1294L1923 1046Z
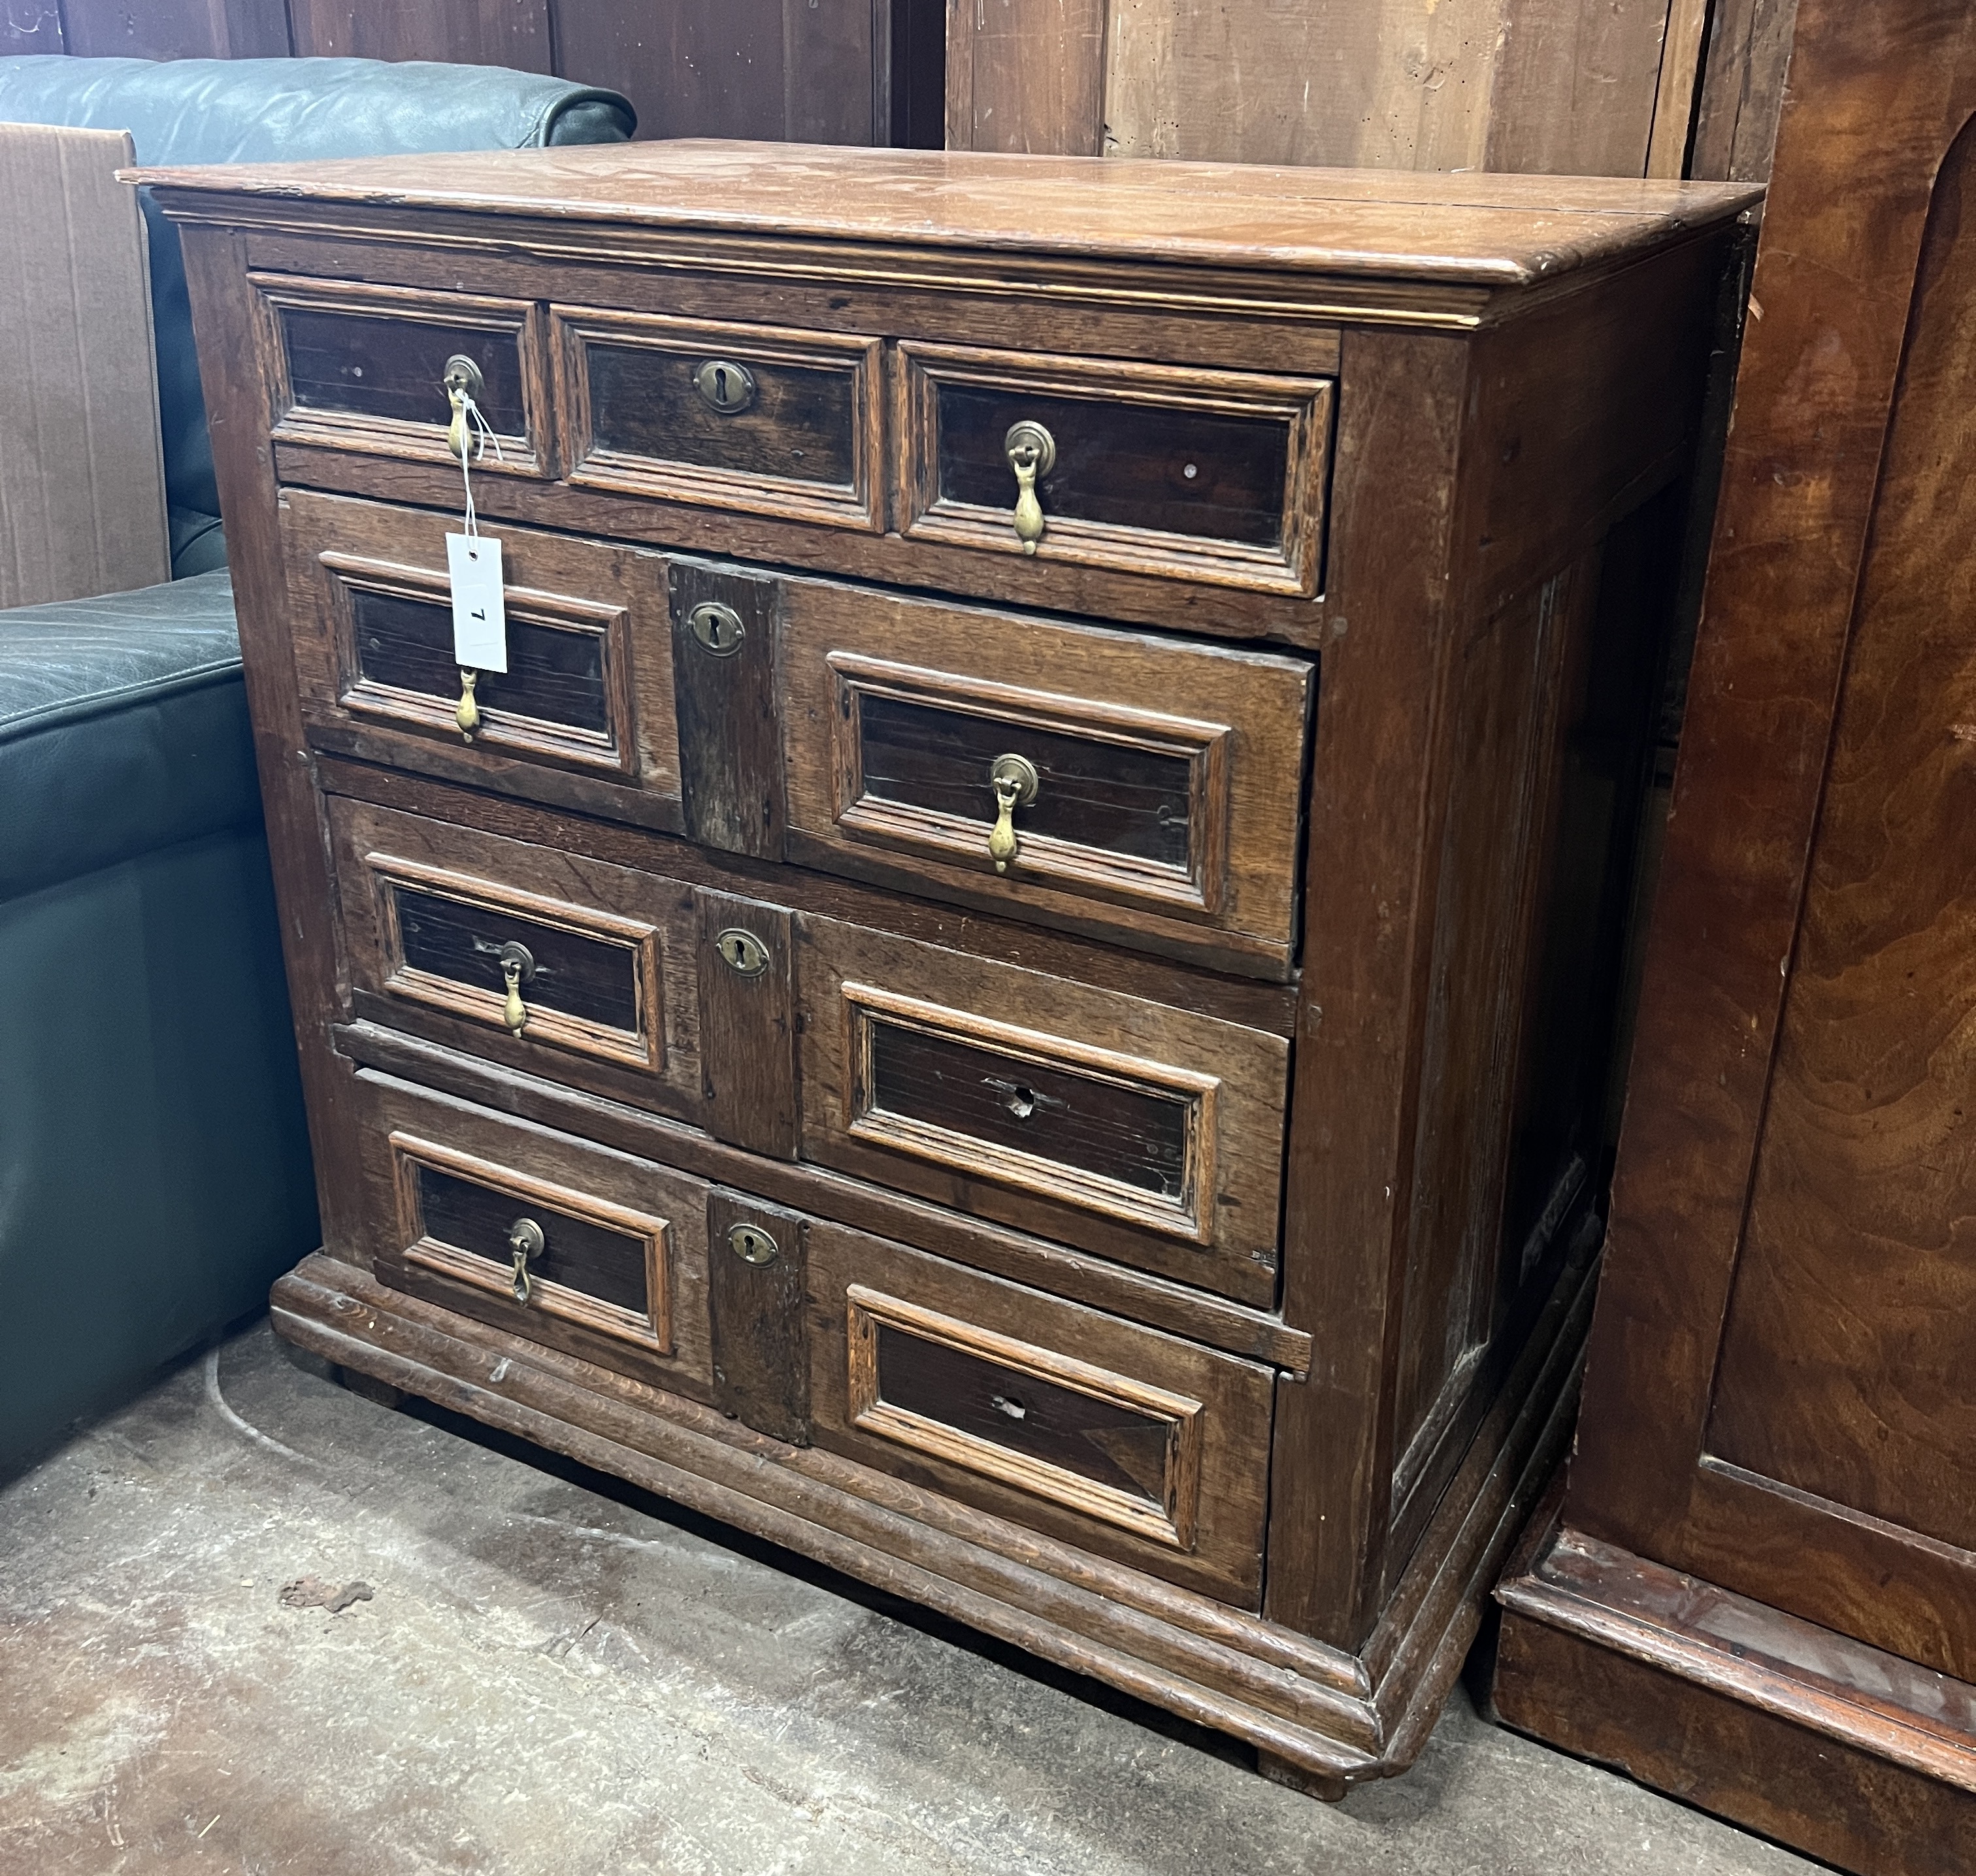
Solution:
M698 1117L692 890L330 799L360 1012Z

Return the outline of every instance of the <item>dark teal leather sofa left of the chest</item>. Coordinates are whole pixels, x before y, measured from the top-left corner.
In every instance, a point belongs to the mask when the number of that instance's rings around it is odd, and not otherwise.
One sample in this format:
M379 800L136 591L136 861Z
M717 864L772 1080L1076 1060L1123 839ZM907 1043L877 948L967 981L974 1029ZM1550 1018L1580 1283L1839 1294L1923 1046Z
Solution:
M0 59L138 162L617 142L611 91L370 59ZM0 1477L255 1309L314 1174L178 235L146 204L172 583L0 613Z

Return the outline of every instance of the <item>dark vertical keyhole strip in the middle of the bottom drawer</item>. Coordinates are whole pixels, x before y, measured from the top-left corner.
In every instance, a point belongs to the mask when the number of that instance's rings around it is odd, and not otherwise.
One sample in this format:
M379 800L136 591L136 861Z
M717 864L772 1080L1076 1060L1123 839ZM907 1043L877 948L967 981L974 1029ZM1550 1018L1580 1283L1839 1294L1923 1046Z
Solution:
M775 1239L767 1263L735 1249L735 1228ZM707 1305L713 1317L713 1402L743 1425L810 1443L808 1247L798 1212L745 1192L707 1194Z

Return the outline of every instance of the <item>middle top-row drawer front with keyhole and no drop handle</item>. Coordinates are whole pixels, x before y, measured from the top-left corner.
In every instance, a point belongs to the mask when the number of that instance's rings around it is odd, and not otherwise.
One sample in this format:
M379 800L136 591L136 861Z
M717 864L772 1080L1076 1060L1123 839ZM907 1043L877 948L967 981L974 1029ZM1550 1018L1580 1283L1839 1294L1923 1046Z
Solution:
M567 480L877 530L875 338L555 308Z

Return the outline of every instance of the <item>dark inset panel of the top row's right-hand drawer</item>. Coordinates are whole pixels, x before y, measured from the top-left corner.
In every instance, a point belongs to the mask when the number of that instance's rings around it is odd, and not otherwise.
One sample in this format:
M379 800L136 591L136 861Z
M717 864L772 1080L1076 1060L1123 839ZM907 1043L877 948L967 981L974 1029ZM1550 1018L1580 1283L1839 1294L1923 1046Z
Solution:
M1035 484L1043 514L1253 546L1282 540L1288 423L948 384L935 395L947 500L1014 508L1002 439L1028 421L1057 445L1055 469Z

